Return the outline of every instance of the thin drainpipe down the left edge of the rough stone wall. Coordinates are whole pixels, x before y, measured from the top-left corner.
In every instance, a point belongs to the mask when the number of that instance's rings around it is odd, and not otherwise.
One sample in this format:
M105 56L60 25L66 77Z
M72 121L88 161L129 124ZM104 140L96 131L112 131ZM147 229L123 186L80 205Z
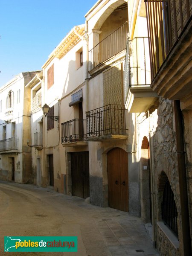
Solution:
M148 123L149 123L149 149L150 149L150 174L151 174L151 210L152 210L152 242L153 247L156 248L155 241L155 221L154 221L154 192L153 192L153 165L152 165L152 147L151 147L151 125L150 125L150 113L148 111Z

